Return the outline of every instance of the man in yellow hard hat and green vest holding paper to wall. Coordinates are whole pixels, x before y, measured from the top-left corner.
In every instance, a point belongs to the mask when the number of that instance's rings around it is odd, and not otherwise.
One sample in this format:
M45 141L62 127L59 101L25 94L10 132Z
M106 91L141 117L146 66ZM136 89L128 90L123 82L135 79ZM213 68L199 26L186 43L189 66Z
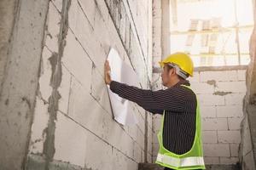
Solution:
M156 163L165 169L205 169L201 143L201 116L195 93L186 79L193 76L189 55L171 54L160 61L165 90L146 90L115 82L105 63L105 82L115 94L129 99L146 111L161 114L158 139L160 144Z

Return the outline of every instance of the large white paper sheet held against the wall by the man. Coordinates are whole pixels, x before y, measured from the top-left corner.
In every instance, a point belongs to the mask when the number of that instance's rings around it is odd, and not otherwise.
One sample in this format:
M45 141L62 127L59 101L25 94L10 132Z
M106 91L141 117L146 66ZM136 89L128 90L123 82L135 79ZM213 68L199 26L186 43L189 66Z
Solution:
M111 67L111 78L113 81L126 83L139 88L139 81L135 71L120 58L114 48L111 48L109 51L108 61ZM131 101L119 97L118 94L114 94L109 86L108 94L114 119L123 125L136 124L137 118L131 107Z

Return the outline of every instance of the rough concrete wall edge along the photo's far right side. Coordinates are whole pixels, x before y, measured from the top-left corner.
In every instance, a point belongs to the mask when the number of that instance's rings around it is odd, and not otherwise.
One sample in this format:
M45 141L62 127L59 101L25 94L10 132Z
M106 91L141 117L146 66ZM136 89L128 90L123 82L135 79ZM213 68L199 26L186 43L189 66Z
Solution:
M253 0L253 18L256 20L256 3ZM254 24L255 25L255 24ZM242 169L253 170L256 157L256 32L253 28L252 36L249 43L251 61L247 68L247 94L244 99L243 112L244 119L241 123L241 147L239 157Z

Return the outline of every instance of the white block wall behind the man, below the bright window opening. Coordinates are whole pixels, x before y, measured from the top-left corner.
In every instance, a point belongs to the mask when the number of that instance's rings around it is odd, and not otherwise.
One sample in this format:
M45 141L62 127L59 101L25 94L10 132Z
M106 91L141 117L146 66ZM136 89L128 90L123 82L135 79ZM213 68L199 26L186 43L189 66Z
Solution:
M246 70L195 71L189 78L200 102L203 149L207 164L236 164L241 143L242 103ZM153 156L158 151L156 133L161 116L153 116Z

